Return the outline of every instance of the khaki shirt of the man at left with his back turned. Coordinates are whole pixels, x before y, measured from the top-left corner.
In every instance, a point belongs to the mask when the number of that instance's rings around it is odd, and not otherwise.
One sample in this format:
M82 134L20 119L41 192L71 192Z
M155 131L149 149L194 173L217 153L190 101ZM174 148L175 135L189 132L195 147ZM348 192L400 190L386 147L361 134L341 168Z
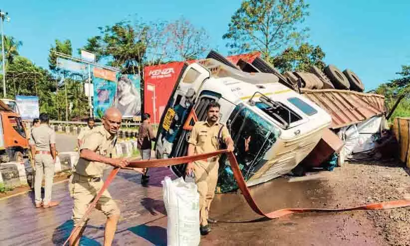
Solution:
M30 145L35 145L39 151L51 151L50 144L55 144L55 131L47 124L40 124L31 130Z

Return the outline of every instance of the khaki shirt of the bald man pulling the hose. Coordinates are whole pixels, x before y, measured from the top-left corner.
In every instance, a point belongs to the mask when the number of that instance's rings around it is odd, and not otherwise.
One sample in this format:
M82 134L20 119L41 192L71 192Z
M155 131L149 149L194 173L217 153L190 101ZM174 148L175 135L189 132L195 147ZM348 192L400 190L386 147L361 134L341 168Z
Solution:
M94 127L89 134L85 135L81 149L90 149L97 154L110 157L117 142L117 136L111 135L104 125ZM77 174L88 177L103 177L103 171L107 164L98 161L89 161L80 158L74 166Z

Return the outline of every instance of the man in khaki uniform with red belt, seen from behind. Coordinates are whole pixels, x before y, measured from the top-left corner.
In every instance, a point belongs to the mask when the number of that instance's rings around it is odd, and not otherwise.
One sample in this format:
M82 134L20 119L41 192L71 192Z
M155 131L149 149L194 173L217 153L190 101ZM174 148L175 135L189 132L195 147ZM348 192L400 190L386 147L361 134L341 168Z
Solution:
M51 201L56 160L55 132L48 126L48 115L40 114L40 125L32 128L29 140L31 156L35 159L34 196L36 208L49 208L59 204ZM44 199L41 184L44 174Z

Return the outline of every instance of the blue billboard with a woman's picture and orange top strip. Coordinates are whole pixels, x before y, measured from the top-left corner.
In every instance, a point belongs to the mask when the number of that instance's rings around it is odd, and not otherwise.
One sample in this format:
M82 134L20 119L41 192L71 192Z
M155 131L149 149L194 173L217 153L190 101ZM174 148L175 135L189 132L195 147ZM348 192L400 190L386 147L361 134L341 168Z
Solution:
M141 115L140 78L102 68L93 69L94 116L101 118L110 107L116 107L123 118Z

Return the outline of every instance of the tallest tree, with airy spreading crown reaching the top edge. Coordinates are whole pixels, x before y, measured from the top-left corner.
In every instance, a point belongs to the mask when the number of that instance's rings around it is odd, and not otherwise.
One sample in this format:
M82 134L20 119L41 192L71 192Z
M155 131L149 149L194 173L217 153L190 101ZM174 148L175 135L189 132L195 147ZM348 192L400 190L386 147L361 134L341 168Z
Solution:
M222 38L231 53L260 51L270 60L280 48L304 39L308 6L304 0L243 0Z

